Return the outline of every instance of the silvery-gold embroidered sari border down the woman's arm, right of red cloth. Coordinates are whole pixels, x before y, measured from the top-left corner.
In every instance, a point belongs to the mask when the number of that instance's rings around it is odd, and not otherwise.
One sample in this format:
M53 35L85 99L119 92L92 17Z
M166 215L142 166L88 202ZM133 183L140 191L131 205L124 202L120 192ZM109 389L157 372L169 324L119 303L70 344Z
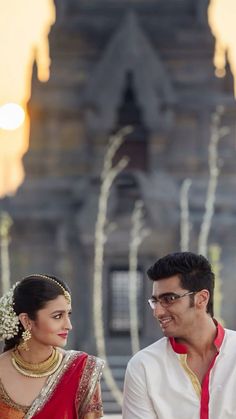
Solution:
M76 405L79 406L79 417L86 413L86 408L101 378L103 367L104 361L102 359L88 355L76 398ZM97 405L97 409L101 410L100 404Z

